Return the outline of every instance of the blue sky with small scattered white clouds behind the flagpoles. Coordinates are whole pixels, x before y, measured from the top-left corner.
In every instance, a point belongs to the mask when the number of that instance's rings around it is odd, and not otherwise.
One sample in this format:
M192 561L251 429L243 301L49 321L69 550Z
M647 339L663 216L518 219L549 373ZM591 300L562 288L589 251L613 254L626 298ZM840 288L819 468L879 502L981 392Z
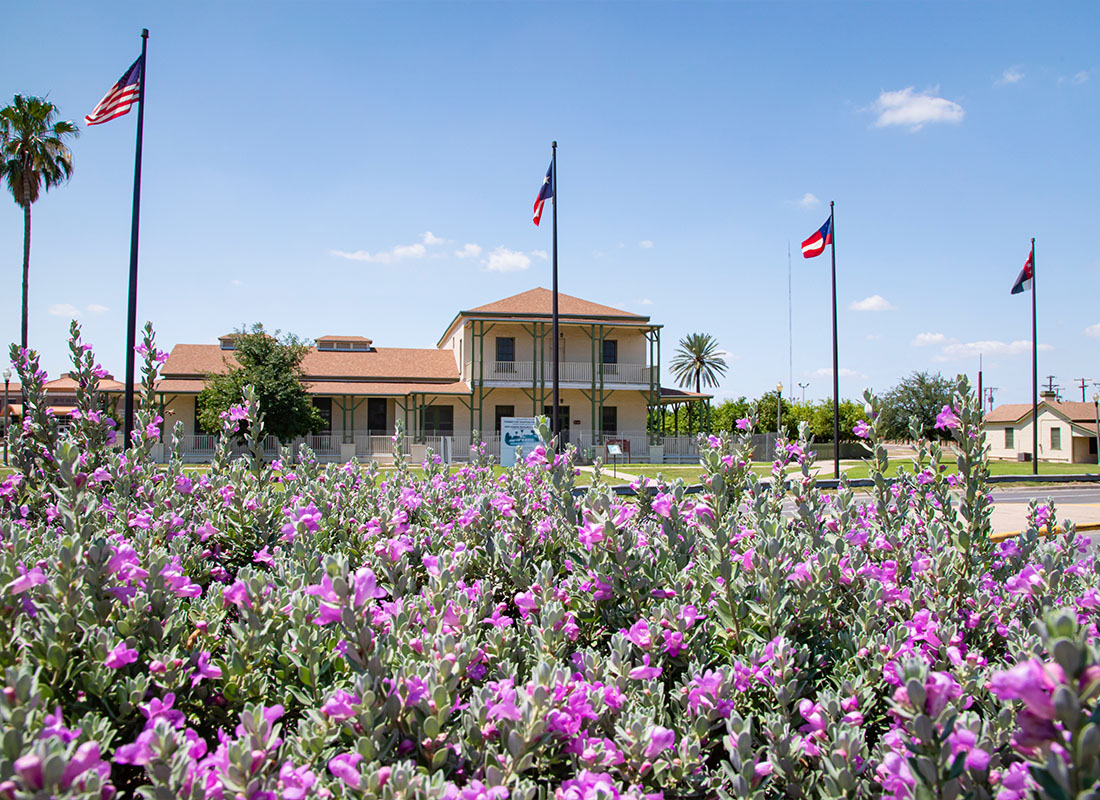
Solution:
M461 308L550 285L531 206L559 142L560 288L729 353L717 394L913 370L1027 402L1100 381L1100 17L1092 2L20 3L0 90L79 120L151 31L139 315L161 346L262 321L433 347ZM136 112L82 130L33 207L31 343L77 314L121 375ZM6 194L7 196L7 194ZM549 210L547 212L549 215ZM0 338L22 216L0 200ZM862 310L861 310L862 309ZM1048 349L1046 349L1048 348ZM666 383L671 377L666 370ZM1088 395L1094 390L1089 388Z

